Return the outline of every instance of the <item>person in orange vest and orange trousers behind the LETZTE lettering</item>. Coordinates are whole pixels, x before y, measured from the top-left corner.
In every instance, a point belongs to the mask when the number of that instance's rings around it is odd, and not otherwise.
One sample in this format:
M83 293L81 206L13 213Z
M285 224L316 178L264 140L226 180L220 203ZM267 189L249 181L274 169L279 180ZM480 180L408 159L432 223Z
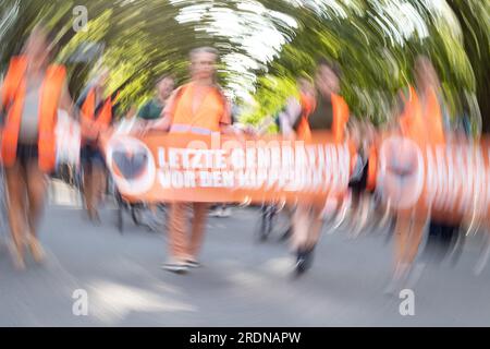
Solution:
M191 52L192 81L177 88L163 110L163 118L151 128L183 134L235 134L231 127L230 105L215 83L218 52L204 47ZM198 267L197 255L201 245L207 203L174 202L169 212L170 257L163 268L183 273ZM187 231L186 213L192 208L194 217L191 233Z

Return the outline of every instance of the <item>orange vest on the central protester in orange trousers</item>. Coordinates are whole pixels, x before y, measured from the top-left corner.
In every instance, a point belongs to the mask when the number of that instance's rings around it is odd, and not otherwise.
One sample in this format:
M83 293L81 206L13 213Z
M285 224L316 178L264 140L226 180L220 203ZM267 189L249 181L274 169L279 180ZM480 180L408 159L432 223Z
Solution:
M220 132L220 120L226 111L224 96L217 87L208 87L200 106L193 113L194 84L180 88L173 106L171 133L210 134Z

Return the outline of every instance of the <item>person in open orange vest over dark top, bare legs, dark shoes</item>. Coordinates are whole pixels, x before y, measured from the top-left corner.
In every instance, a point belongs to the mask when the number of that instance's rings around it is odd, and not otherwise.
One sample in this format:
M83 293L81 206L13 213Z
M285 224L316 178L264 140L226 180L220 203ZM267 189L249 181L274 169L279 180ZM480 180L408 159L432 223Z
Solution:
M311 131L331 130L334 142L345 139L348 107L339 95L336 65L321 60L315 75L315 86L307 80L299 81L301 99L291 98L280 116L283 130L294 130L295 136L308 141ZM284 133L289 136L287 131ZM313 252L320 237L321 212L307 204L298 204L293 217L293 249L296 253L296 272L304 273L313 262Z

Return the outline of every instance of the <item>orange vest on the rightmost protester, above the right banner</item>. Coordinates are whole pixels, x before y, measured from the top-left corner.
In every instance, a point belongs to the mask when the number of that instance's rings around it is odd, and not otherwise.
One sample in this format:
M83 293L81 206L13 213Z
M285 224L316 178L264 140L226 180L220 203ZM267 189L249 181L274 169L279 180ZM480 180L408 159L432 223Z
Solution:
M445 136L438 96L430 89L426 98L424 109L415 88L409 86L408 99L405 100L405 109L400 118L402 134L419 144L442 144Z

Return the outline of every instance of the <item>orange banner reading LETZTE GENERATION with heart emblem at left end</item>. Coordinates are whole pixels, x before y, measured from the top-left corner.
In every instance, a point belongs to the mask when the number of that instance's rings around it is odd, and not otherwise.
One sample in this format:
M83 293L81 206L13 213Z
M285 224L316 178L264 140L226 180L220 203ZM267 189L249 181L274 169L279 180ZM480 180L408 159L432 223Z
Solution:
M329 133L311 141L236 139L219 133L113 135L106 161L130 202L274 202L324 204L347 191L351 154Z

